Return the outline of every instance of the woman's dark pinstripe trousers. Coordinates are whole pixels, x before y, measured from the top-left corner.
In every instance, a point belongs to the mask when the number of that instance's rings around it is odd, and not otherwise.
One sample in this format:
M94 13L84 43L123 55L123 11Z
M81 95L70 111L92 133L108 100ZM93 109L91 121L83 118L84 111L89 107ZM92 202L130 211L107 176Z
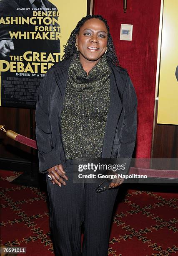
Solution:
M53 185L46 174L55 256L107 256L118 189L97 193L96 183L74 183L71 163L67 160L66 186ZM84 237L81 248L82 223Z

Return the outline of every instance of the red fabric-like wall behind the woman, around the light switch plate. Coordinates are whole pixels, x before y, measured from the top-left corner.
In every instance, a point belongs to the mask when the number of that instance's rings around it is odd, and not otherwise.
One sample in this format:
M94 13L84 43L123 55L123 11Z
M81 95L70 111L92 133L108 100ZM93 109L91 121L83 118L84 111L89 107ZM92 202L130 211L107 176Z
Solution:
M138 97L136 157L149 158L153 133L155 79L158 50L160 0L95 0L94 14L102 15L121 67L128 69ZM133 24L132 41L120 40L120 24Z

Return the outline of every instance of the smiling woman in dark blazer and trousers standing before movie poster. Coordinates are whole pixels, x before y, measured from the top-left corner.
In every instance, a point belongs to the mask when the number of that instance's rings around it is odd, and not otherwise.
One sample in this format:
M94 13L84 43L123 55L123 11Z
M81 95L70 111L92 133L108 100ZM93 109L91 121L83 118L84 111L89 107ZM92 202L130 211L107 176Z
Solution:
M73 160L131 158L135 90L126 69L119 67L102 16L82 18L64 52L63 61L48 70L39 87L35 112L55 255L106 256L113 205L123 179L113 179L107 191L97 193L95 183L73 182Z

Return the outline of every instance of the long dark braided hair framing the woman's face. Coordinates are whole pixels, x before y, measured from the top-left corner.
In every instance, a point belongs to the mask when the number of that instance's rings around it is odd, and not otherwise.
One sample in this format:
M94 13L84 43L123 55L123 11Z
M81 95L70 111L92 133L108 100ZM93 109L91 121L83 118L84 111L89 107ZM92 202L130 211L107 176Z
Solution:
M77 49L75 47L76 42L76 35L79 34L81 26L85 23L85 21L97 18L102 20L105 23L105 26L108 30L108 41L107 41L107 47L108 50L106 52L106 57L109 59L115 66L119 66L119 61L115 53L115 47L113 44L113 38L110 35L109 26L107 23L107 20L105 20L101 15L87 15L86 17L83 17L77 24L77 26L74 28L72 33L70 34L70 37L67 41L67 44L64 45L64 55L62 59L68 59L70 56L72 56L74 53L77 53Z

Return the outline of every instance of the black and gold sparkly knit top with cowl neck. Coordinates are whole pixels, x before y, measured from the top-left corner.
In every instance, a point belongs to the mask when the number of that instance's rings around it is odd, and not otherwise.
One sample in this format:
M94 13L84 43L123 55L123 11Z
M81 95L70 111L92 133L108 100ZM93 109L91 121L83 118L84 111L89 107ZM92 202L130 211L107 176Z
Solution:
M110 103L110 74L105 54L88 75L78 55L71 59L61 113L66 159L100 158Z

